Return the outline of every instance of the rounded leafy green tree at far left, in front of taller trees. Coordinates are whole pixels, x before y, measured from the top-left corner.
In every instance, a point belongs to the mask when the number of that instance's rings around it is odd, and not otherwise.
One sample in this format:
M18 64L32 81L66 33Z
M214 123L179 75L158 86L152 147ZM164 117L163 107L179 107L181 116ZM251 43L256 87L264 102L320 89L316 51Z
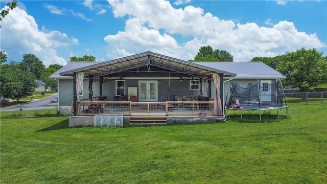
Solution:
M20 98L29 96L38 87L35 76L18 65L1 65L1 95L18 102Z

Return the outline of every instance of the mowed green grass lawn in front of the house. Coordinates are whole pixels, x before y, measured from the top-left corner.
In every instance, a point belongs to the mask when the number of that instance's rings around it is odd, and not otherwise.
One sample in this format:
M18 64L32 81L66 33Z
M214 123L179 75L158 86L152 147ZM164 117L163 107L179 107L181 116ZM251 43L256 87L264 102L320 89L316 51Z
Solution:
M290 116L272 123L2 118L1 183L327 183L327 102L288 104Z

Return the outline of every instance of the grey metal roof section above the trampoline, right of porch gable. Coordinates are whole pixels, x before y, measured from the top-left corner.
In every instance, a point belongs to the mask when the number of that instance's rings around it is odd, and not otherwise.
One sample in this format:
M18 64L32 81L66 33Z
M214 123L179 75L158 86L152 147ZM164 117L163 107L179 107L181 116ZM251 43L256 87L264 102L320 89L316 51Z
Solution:
M252 62L195 62L207 67L237 74L235 78L247 79L284 79L281 73L260 61Z

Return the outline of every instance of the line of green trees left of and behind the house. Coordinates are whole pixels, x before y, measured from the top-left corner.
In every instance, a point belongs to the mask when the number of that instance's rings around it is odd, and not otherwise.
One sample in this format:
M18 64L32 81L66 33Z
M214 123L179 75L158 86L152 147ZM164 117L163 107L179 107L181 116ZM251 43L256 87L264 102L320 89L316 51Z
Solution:
M73 56L69 59L69 61L95 60L94 56L87 55ZM43 62L33 54L23 55L21 62L11 61L9 64L3 64L6 61L7 55L2 51L0 53L0 89L1 95L5 98L18 102L22 97L30 96L38 87L37 80L44 82L46 87L57 89L57 81L50 76L62 68L62 65L50 64L49 67L45 67Z

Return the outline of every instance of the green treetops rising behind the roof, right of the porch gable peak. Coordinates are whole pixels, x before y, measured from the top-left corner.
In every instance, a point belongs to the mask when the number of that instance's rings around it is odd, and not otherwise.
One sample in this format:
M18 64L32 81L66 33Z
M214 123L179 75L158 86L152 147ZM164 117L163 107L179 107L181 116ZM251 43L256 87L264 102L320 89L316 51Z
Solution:
M233 61L233 57L223 50L216 49L215 51L211 46L203 46L194 57L194 60L189 61Z

